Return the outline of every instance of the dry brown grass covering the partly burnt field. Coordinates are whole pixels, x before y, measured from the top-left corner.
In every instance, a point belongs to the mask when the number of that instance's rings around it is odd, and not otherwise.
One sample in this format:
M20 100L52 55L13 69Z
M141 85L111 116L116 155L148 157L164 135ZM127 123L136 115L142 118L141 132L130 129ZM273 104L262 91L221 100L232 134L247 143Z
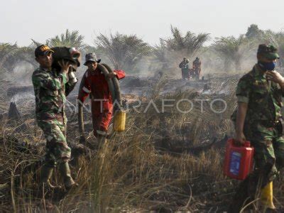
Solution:
M157 84L151 93L158 109L162 99L157 92L159 85L163 87L164 82ZM190 90L165 97L178 102L182 98L193 101L219 95ZM149 98L141 97L141 111ZM167 108L163 114L153 107L146 113L131 109L124 133L95 150L85 148L84 155L76 153L79 133L77 125L70 123L67 141L74 154L70 163L80 187L67 194L53 192L45 200L38 195L38 168L45 144L41 131L33 116L27 115L22 121L2 118L1 212L226 211L237 182L222 175L224 149L220 146L200 149L213 138L219 141L232 133L229 116L234 109L233 94L222 98L228 103L223 114L214 114L209 104L204 104L204 112L200 112L200 104L195 104L187 114L180 114L175 108ZM180 104L181 109L187 107ZM33 108L28 111L33 114ZM88 141L96 143L93 136ZM52 182L61 184L58 173L53 175ZM278 206L284 202L283 187L281 176L275 181Z

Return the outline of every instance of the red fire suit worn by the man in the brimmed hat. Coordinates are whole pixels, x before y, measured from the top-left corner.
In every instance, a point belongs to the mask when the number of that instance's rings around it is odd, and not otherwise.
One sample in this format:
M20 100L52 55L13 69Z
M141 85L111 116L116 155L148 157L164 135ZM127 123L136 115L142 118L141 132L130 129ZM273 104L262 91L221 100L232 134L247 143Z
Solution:
M123 70L114 70L117 79L125 77ZM91 94L92 96L92 123L94 136L104 135L109 127L112 116L112 98L109 85L104 74L97 68L94 71L87 70L84 73L78 94L78 102L84 100Z

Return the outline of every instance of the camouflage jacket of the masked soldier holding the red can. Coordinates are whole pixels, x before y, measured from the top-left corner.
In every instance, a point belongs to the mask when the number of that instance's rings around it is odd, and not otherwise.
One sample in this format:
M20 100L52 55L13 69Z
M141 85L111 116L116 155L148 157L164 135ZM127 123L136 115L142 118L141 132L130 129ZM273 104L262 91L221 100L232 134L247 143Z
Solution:
M266 80L265 73L257 64L239 80L236 97L238 102L248 104L245 125L270 125L282 118L283 91L279 84Z

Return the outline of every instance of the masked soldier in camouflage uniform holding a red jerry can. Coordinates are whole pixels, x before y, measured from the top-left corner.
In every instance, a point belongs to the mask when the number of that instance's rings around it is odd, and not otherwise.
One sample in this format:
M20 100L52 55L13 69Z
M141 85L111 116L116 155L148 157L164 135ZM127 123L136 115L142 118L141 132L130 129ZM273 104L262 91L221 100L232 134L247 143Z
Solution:
M259 45L258 63L239 80L236 87L238 109L236 143L251 141L255 149L255 170L241 182L229 212L239 212L241 206L255 200L264 187L272 182L284 167L284 138L282 128L282 97L284 78L274 70L279 58L273 45ZM275 209L273 203L269 207Z

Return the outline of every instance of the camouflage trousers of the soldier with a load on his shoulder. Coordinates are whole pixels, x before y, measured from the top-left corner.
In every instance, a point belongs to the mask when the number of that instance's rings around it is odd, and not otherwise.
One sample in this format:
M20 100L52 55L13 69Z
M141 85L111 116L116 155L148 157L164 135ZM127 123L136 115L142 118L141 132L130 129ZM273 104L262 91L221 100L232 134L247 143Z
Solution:
M71 148L67 146L65 124L57 119L38 120L38 126L46 139L45 165L55 167L58 163L68 162Z

